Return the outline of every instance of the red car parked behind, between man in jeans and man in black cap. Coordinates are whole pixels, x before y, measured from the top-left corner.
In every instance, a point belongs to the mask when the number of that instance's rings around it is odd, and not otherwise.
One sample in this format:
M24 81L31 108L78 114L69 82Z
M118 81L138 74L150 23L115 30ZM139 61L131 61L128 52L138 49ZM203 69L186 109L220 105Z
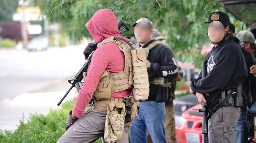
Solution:
M182 124L176 126L177 143L202 143L201 104L195 105L182 113Z

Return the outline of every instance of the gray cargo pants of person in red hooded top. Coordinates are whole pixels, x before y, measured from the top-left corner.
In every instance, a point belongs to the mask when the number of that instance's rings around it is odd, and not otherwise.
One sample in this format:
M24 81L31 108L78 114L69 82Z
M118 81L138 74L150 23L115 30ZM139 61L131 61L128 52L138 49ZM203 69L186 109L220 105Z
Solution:
M104 139L104 128L107 112L93 109L85 110L57 143L93 143L100 137ZM129 143L128 132L132 123L125 123L122 140L116 143ZM106 143L104 141L104 143Z

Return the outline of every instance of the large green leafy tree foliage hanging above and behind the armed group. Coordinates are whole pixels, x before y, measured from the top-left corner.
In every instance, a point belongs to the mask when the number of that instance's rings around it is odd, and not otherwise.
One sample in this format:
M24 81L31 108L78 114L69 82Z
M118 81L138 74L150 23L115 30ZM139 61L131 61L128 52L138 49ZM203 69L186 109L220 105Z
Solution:
M100 8L108 8L131 28L141 17L147 17L168 39L167 43L182 61L202 60L200 51L209 44L208 15L224 8L215 0L34 0L51 22L59 22L72 39L90 37L84 24ZM47 2L45 2L47 1ZM230 15L230 14L229 14ZM237 22L236 22L236 25ZM133 35L133 28L126 33ZM182 54L179 54L182 53Z

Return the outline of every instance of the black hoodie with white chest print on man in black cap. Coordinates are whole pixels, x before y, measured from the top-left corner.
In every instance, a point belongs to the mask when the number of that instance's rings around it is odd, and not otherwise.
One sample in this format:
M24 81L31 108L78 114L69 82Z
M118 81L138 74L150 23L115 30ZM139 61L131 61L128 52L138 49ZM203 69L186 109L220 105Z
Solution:
M241 48L234 42L231 34L226 39L213 47L205 57L207 76L202 79L200 72L198 79L191 82L191 89L197 93L209 93L207 107L219 103L221 92L236 89L248 75L247 66ZM243 94L243 100L246 100Z

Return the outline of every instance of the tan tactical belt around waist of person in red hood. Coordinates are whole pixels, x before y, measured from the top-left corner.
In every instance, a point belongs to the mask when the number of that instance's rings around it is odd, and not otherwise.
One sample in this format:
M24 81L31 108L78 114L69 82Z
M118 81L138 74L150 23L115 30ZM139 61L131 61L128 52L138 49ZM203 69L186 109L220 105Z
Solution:
M110 101L123 102L125 100L125 98L119 98L119 99L117 99L117 98L108 98L108 99L105 99L105 100L94 100L93 101L94 103L90 102L90 105L95 110L102 111L102 112L107 112L108 103Z

